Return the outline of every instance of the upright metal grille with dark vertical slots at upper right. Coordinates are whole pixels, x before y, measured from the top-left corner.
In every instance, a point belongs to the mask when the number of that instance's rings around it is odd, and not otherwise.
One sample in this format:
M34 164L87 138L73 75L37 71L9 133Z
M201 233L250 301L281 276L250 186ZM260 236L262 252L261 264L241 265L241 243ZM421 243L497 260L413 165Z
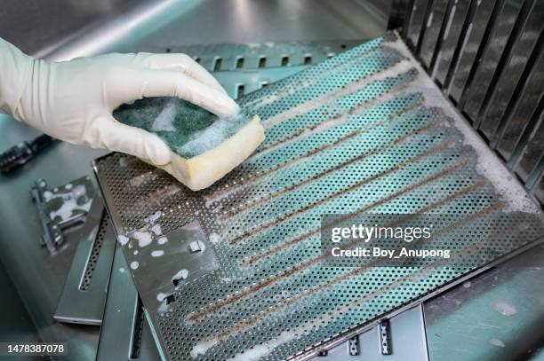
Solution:
M416 57L544 205L544 1L404 3L396 24Z

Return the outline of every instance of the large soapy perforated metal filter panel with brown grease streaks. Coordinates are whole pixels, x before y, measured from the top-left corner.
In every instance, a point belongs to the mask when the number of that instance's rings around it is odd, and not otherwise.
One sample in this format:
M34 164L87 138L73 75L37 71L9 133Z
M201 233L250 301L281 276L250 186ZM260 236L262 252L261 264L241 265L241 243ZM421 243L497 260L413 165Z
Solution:
M394 34L239 103L267 138L202 192L122 154L95 162L165 357L309 357L479 268L327 267L324 214L458 215L472 237L457 239L457 256L478 249L478 266L544 235L538 208ZM188 254L191 239L207 258Z

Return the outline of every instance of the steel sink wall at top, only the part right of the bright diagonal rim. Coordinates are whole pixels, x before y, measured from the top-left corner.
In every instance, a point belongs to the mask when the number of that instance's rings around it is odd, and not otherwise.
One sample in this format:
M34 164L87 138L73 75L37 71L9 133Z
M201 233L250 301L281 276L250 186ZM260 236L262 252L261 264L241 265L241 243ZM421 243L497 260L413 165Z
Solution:
M172 44L233 43L233 39L234 43L364 40L384 33L388 10L389 1L205 1L119 49L146 51Z

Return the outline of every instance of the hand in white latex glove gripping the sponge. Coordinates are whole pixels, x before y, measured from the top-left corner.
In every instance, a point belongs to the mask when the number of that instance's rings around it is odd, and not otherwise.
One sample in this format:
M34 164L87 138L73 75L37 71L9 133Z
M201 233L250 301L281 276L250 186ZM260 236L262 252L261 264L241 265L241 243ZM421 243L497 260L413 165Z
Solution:
M144 97L182 98L219 116L238 111L220 83L185 54L50 62L0 38L0 110L52 137L166 164L170 150L159 137L112 116L117 106Z

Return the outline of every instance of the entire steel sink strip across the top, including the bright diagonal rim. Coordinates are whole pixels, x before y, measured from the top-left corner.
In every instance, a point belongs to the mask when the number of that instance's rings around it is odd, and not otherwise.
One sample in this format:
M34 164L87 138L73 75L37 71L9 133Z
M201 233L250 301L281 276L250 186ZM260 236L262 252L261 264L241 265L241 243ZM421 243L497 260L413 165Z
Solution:
M376 0L25 0L6 8L0 34L37 56L72 59L188 44L364 40L383 34L388 10L389 1Z

